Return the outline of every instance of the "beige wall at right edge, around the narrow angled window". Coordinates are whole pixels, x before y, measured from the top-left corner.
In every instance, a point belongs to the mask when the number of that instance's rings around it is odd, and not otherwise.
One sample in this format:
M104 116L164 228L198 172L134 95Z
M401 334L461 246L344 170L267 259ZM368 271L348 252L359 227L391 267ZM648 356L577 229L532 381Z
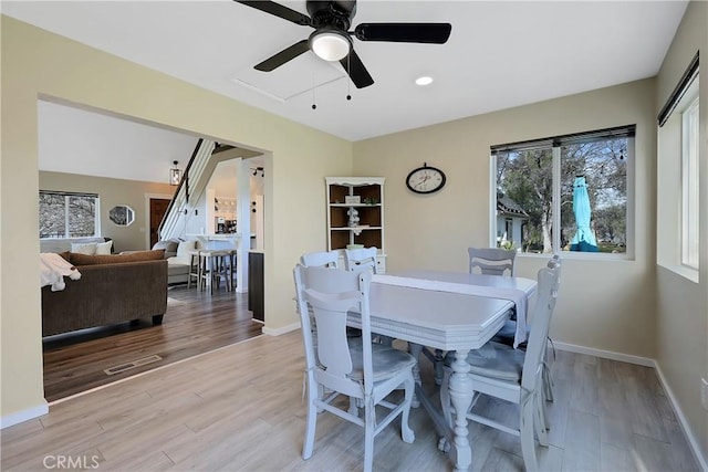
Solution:
M656 109L668 99L688 63L700 51L700 255L699 283L657 268L657 363L708 458L708 412L700 379L708 379L708 2L691 2L657 76ZM676 189L676 191L679 191ZM658 222L662 224L662 221Z

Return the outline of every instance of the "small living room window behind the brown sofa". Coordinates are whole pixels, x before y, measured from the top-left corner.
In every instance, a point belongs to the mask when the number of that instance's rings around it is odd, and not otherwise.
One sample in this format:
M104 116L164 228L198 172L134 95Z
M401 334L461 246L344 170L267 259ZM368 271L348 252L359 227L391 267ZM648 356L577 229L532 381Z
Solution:
M40 238L100 235L98 196L40 190Z

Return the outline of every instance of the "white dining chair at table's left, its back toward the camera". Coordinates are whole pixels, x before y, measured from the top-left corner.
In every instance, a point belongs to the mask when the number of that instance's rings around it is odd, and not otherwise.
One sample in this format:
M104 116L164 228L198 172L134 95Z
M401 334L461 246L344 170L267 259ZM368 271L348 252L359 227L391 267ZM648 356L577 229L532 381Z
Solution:
M405 442L415 434L408 426L415 382L416 360L408 353L372 344L368 271L346 272L296 265L294 270L298 312L302 323L308 384L308 418L302 457L314 449L317 415L330 412L364 428L364 471L373 469L374 437L400 415L400 433ZM312 310L314 316L310 316ZM346 337L347 313L361 313L363 336L352 343ZM311 323L319 333L316 349ZM405 390L400 402L385 398L396 389ZM327 391L323 395L323 391ZM362 400L364 417L339 408L334 400L345 395ZM377 418L376 407L389 410Z

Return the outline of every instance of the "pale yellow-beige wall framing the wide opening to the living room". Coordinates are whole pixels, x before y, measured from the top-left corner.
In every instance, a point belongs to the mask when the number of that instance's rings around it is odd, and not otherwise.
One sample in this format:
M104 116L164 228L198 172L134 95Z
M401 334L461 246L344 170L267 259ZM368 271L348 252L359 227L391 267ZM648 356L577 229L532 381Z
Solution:
M325 247L324 177L352 172L352 145L2 17L0 357L2 418L44 403L40 326L39 98L93 107L269 151L266 327L296 323L292 268ZM308 221L303 224L303 221Z

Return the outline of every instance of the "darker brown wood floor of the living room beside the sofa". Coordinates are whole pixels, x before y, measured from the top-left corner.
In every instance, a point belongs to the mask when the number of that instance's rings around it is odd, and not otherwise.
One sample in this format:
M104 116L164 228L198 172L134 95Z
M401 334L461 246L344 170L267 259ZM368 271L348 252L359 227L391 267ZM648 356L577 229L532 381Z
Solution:
M167 292L167 312L159 326L140 319L44 338L44 398L66 398L236 344L260 335L262 326L248 311L247 293L209 294L176 285ZM160 360L111 376L104 371L153 355Z

